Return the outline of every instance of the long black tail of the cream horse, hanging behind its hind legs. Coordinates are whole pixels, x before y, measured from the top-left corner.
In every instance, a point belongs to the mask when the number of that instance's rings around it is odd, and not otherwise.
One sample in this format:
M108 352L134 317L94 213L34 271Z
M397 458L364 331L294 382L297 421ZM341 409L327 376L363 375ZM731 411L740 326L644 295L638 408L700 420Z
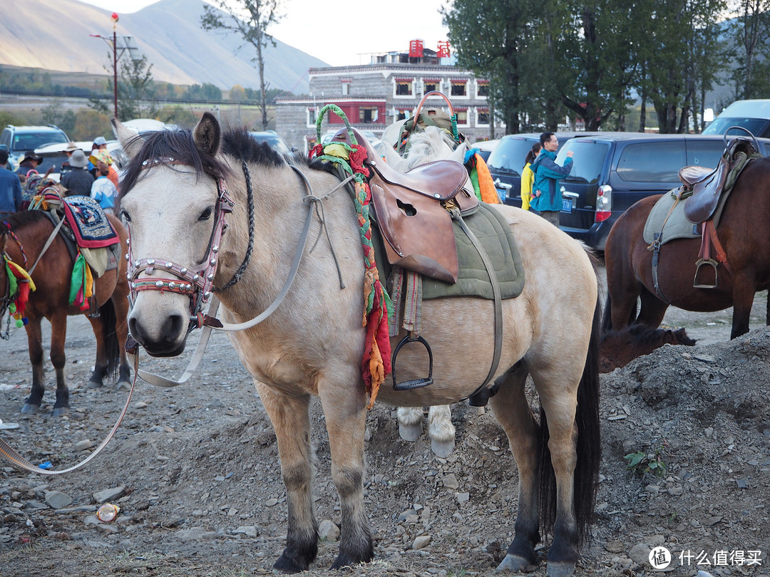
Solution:
M577 462L573 478L573 503L577 531L581 541L591 538L594 507L599 484L601 465L601 435L599 431L599 345L601 340L601 299L597 296L591 339L581 382L577 386ZM548 423L540 409L541 459L540 459L540 512L546 532L556 521L556 474L548 449Z

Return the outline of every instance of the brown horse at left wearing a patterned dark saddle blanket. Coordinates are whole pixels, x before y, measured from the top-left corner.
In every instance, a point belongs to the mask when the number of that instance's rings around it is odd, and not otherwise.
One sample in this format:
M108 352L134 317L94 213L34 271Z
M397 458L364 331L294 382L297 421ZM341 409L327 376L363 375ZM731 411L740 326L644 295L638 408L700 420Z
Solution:
M107 218L120 237L120 254L125 255L128 239L126 229L114 216L107 215ZM18 212L8 219L7 225L0 223L0 253L4 252L18 265L23 265L26 255L28 267L32 267L53 229L54 225L45 212ZM22 407L23 413L36 412L40 408L45 391L41 330L41 321L44 318L51 323L51 362L56 372L56 402L53 415L58 417L69 412L69 389L64 376L67 316L83 314L78 307L69 305L72 266L72 258L65 241L61 235L57 235L32 272L32 281L35 282L37 290L30 292L25 310L25 317L28 319L25 328L29 359L32 361L32 392ZM0 266L0 290L0 312L4 312L5 306L8 305L5 266ZM113 375L118 368L119 382L130 382L130 369L125 351L128 335L128 294L126 260L119 258L118 269L109 270L101 278L95 279L95 298L99 315L89 316L96 336L96 362L89 379L89 387L102 386L102 379ZM88 313L89 311L85 312L86 315Z

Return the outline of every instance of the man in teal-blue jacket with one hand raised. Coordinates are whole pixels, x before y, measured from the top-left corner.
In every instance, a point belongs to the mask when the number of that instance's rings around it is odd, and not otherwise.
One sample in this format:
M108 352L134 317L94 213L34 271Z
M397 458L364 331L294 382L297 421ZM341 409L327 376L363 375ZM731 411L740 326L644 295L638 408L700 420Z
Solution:
M558 226L562 204L559 179L567 176L572 170L572 151L567 152L564 166L559 166L556 164L556 151L559 149L556 135L553 132L543 132L540 135L540 143L543 149L530 166L534 172L530 207L548 222Z

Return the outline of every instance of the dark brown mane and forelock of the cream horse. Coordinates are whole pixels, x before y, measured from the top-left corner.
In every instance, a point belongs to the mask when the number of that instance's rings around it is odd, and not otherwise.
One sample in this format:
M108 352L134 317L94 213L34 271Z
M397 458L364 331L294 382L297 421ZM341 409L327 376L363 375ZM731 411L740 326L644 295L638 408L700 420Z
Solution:
M213 178L228 178L232 172L228 166L216 156L200 152L192 138L192 130L159 130L143 137L139 154L134 156L126 168L126 175L121 182L121 197L126 195L136 185L136 181L142 175L142 162L149 158L174 158L176 162L192 166L196 175L200 178L203 174ZM246 127L231 128L223 133L219 152L233 158L238 158L250 164L268 167L303 164L325 170L336 171L328 163L308 162L303 155L284 156L276 152L266 142L257 142L251 138Z

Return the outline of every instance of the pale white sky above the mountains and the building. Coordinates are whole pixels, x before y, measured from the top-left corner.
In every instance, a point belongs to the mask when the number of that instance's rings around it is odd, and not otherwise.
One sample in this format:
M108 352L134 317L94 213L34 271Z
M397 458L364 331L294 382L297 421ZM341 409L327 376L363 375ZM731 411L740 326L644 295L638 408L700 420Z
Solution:
M120 14L138 12L157 0L80 0ZM283 0L285 16L269 28L281 42L332 66L368 64L370 52L406 51L421 39L436 50L447 40L439 8L451 0L360 0L319 2Z

